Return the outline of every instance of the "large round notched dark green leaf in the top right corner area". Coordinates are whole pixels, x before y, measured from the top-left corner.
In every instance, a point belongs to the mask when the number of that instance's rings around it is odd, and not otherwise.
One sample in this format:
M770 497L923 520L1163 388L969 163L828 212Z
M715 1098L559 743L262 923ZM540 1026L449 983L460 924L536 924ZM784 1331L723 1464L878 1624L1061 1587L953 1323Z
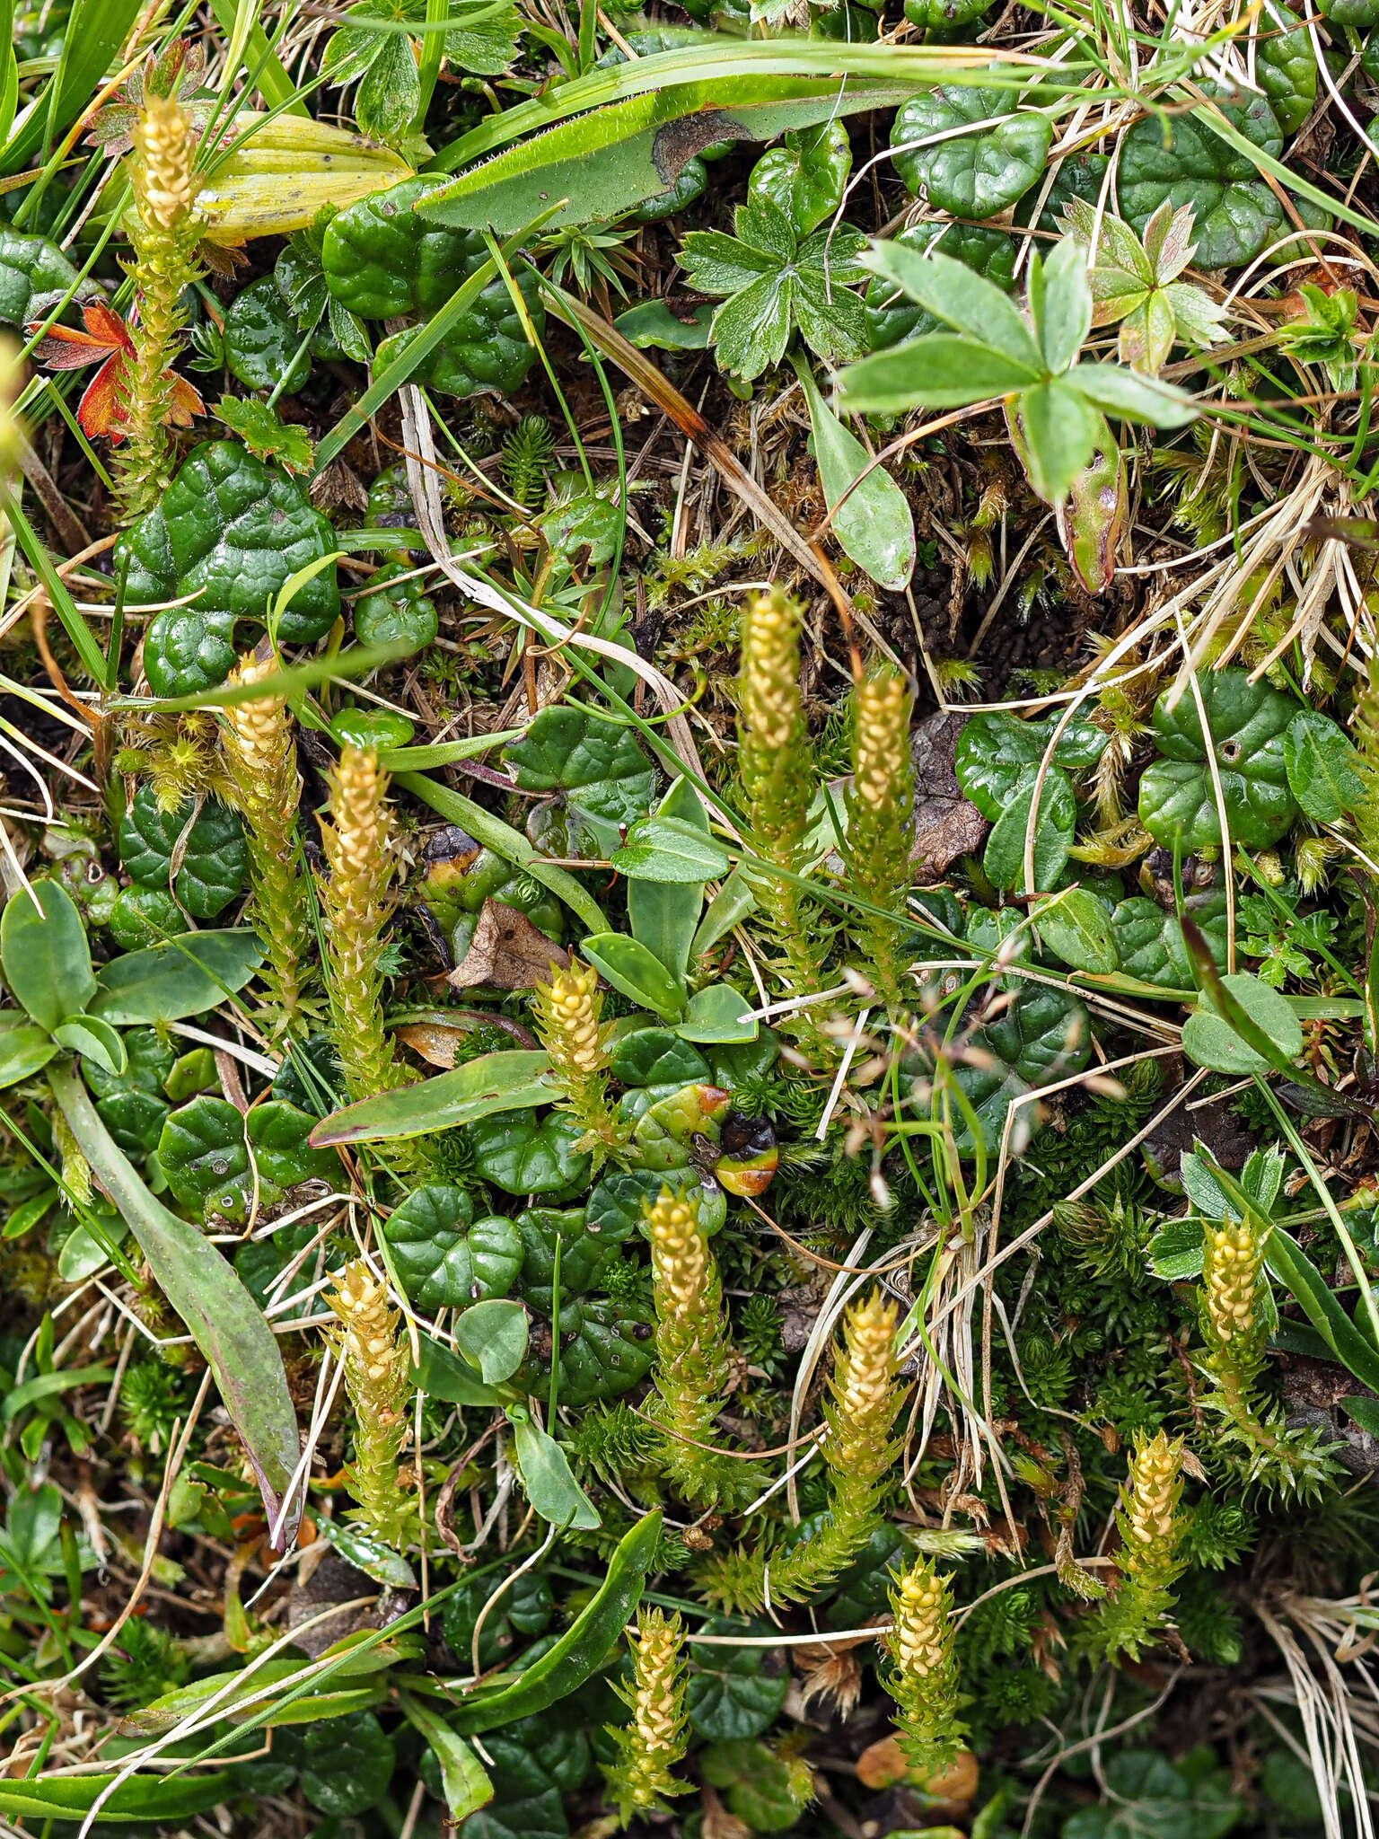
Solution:
M1263 96L1234 101L1217 92L1226 120L1256 147L1278 156L1283 136ZM1247 154L1236 153L1191 114L1179 114L1171 127L1153 116L1136 121L1120 143L1120 208L1136 234L1144 234L1158 206L1191 204L1199 268L1226 268L1254 261L1271 232L1283 221L1283 206Z

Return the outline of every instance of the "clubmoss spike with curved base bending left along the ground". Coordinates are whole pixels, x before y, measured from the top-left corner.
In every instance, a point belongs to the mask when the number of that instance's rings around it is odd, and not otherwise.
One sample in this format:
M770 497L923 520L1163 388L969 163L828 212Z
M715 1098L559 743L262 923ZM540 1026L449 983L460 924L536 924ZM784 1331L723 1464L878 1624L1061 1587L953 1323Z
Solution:
M702 1572L708 1596L732 1609L807 1602L866 1545L881 1523L881 1497L895 1458L895 1418L908 1390L897 1383L897 1322L895 1304L881 1291L844 1313L824 1405L827 1513L783 1550L759 1545L712 1559Z

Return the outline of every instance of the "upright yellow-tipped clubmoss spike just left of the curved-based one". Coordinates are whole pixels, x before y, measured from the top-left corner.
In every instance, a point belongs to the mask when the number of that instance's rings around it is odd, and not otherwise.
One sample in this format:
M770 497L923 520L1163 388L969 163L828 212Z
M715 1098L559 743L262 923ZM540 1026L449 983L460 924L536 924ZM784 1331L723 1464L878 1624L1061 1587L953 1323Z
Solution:
M691 1194L662 1188L645 1210L656 1304L655 1416L662 1425L664 1469L690 1501L715 1502L732 1464L712 1445L713 1420L728 1385L723 1284Z

